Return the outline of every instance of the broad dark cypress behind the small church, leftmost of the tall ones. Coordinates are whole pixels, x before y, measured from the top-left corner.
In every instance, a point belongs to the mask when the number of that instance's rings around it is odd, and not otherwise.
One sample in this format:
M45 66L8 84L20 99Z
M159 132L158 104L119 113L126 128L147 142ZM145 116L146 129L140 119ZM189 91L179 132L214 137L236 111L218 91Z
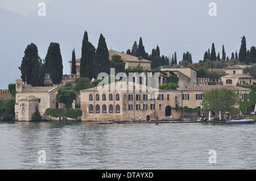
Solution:
M44 77L42 60L38 56L38 48L34 43L27 45L19 70L21 71L20 78L22 78L23 82L27 81L32 86L42 85L42 77Z

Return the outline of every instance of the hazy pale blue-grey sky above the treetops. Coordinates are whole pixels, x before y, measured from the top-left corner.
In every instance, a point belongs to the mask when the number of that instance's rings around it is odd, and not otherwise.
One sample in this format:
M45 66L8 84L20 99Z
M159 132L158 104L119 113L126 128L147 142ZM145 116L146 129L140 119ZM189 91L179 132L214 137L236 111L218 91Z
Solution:
M46 3L46 16L38 14L40 2ZM96 48L102 33L108 48L119 52L142 37L148 54L159 45L161 55L176 52L178 61L187 51L193 62L202 60L212 43L220 56L224 45L231 57L242 36L247 49L256 46L255 7L255 0L1 0L0 89L20 78L18 67L30 43L43 59L49 43L59 43L63 73L69 74L72 49L80 58L85 30Z

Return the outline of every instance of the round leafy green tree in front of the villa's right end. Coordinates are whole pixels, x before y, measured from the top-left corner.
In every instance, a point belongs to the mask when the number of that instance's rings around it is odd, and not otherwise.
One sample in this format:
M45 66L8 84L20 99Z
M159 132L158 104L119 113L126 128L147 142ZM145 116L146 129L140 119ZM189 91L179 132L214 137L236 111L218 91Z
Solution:
M204 111L230 112L236 115L239 112L239 105L241 103L240 92L222 87L220 89L212 89L204 91L201 100L201 106Z

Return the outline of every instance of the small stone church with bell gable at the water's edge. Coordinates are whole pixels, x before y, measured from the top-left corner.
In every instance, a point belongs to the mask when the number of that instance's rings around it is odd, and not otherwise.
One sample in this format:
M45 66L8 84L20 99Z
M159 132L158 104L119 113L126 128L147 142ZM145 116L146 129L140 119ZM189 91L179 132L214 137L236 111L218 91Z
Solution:
M57 108L56 95L57 87L32 87L17 79L15 120L30 121L36 110L43 116L47 108Z

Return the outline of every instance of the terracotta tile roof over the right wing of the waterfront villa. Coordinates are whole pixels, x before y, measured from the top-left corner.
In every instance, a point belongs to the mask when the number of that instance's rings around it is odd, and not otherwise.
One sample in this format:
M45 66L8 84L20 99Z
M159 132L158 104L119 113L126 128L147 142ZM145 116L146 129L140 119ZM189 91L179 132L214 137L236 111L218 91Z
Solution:
M186 89L182 89L180 91L210 91L212 89L216 88L222 88L226 87L226 89L231 89L233 91L250 91L251 89L247 89L244 87L238 87L238 86L193 86L193 87L188 87Z

